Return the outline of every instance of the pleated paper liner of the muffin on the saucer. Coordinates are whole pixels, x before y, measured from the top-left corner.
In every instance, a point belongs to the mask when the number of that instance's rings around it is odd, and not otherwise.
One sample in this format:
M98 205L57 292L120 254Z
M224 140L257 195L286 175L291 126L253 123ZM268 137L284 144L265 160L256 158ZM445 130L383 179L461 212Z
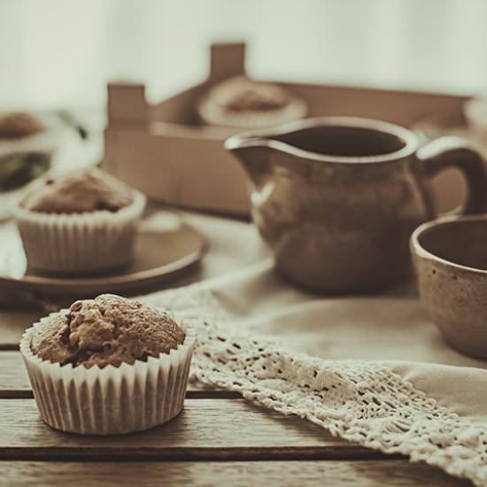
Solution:
M89 273L122 267L134 255L136 224L146 198L118 212L40 213L14 205L29 267L56 273Z

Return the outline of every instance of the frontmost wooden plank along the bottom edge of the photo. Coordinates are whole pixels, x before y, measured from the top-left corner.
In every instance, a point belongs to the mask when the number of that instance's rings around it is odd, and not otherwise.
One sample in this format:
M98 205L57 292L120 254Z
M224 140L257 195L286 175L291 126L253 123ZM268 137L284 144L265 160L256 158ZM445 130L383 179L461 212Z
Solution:
M407 460L321 460L249 462L27 462L0 461L5 485L208 485L269 487L354 485L375 487L461 487L471 485L438 468Z

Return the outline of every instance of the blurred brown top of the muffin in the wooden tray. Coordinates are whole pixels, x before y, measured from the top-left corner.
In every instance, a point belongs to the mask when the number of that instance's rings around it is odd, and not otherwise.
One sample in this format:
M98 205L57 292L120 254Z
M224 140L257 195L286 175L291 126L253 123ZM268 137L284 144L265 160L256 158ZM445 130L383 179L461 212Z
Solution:
M208 96L230 112L278 110L291 101L290 94L280 86L243 76L222 81Z

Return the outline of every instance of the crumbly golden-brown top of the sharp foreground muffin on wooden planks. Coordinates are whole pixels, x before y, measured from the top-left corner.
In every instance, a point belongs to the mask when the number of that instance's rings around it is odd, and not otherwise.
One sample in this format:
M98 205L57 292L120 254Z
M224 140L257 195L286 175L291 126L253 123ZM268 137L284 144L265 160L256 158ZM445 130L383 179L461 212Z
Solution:
M30 348L44 360L100 368L169 353L186 333L165 312L138 301L102 294L75 301L69 313L37 325Z

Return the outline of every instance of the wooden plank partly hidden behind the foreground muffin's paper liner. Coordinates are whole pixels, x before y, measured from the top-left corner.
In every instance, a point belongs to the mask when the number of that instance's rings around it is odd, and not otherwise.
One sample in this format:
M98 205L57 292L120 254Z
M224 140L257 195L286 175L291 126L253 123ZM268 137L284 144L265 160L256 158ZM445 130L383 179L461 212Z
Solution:
M33 398L27 371L18 351L0 351L0 398ZM186 397L201 398L241 398L230 390L213 390L197 383L188 384Z

